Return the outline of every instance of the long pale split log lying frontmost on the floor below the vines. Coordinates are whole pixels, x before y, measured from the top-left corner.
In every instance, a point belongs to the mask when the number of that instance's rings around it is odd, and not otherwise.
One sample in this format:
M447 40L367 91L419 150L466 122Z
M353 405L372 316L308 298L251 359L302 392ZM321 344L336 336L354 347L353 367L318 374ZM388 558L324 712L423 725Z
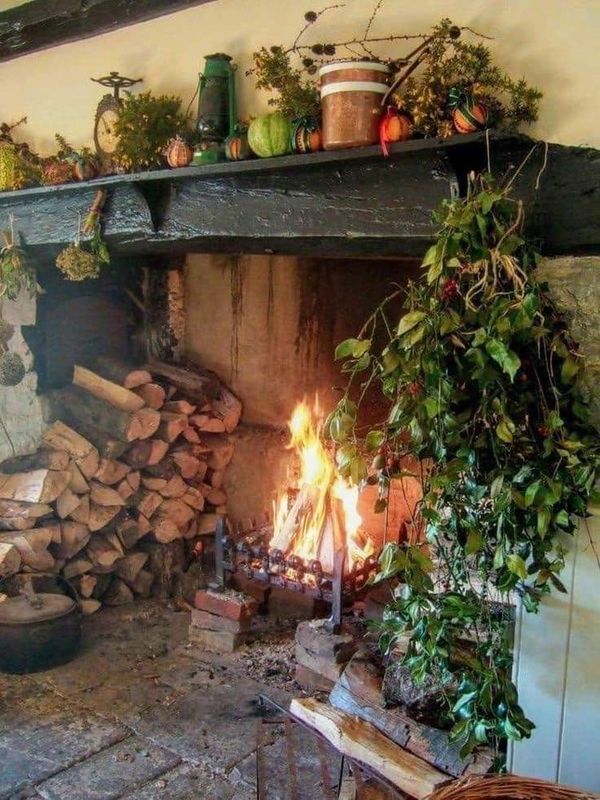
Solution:
M294 698L290 713L320 733L342 755L367 765L410 797L423 800L448 775L390 741L375 726L314 698Z

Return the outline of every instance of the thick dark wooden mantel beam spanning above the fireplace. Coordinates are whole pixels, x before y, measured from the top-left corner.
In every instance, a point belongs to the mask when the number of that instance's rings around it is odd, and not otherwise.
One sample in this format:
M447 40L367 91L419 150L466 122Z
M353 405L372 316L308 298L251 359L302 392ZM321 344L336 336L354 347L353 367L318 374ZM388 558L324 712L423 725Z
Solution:
M106 188L104 235L123 254L420 255L433 211L488 164L514 182L547 253L597 252L598 151L497 132L111 175L0 194L26 245L53 257ZM546 152L547 150L547 152ZM545 164L545 167L544 167ZM539 175L539 179L538 179ZM537 188L536 188L537 185Z

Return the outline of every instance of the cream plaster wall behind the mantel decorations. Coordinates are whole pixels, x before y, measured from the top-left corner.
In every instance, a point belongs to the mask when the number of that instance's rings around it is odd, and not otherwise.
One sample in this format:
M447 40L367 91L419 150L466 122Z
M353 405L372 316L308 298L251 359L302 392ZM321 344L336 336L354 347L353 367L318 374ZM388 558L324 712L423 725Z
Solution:
M346 0L315 26L321 38L360 31L374 0ZM102 93L89 80L119 70L144 77L144 87L179 94L187 105L206 53L225 51L239 64L242 115L263 110L266 97L244 76L262 44L289 44L303 13L325 3L312 0L216 0L150 22L22 56L0 64L0 119L27 114L21 135L42 152L61 131L76 145L91 140ZM531 132L563 144L600 147L596 77L600 73L598 0L384 0L374 33L425 31L441 17L495 36L491 47L515 76L545 92ZM313 41L315 40L313 39ZM400 51L405 51L400 44Z

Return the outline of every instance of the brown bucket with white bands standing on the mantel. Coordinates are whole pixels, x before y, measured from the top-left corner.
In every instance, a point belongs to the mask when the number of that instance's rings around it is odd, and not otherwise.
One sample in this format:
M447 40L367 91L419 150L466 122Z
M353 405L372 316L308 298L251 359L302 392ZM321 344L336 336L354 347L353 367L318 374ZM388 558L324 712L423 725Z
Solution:
M390 70L376 61L337 61L319 70L323 148L339 150L379 141L381 100Z

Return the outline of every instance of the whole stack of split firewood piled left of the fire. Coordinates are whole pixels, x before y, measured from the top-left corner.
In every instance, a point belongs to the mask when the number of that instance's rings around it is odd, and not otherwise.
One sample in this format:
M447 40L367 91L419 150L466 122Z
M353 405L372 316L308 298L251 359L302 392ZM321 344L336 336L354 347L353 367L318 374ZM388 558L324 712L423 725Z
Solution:
M148 597L152 546L226 512L240 401L212 374L101 358L53 393L37 452L0 464L0 577L55 572L87 613Z

